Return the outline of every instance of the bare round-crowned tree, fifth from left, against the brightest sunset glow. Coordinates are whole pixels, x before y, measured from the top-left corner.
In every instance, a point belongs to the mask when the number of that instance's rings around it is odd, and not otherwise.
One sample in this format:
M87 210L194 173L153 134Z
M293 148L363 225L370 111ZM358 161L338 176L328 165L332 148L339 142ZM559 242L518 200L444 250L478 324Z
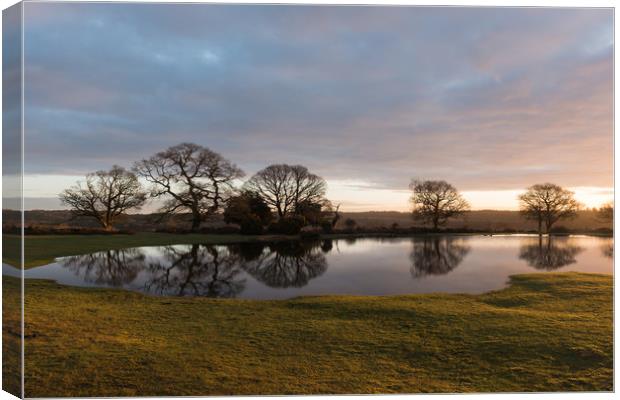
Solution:
M574 218L581 207L575 200L574 193L553 183L530 186L519 195L520 211L525 218L538 223L538 233L542 234L545 224L547 233L560 219Z

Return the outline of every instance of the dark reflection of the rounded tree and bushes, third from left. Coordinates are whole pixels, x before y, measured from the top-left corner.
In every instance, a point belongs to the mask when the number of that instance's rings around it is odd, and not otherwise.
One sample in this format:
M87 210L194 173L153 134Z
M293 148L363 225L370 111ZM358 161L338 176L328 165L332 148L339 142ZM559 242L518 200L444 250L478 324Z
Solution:
M251 249L251 248L250 248ZM314 241L286 241L270 243L261 250L239 245L243 253L243 269L256 280L270 287L303 287L327 270L323 252L331 245ZM251 256L251 257L250 257Z

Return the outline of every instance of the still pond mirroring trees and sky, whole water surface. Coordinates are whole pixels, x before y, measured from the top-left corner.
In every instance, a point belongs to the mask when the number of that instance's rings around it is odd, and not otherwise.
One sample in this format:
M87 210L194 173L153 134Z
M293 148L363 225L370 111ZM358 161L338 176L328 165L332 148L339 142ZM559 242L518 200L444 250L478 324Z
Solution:
M152 295L282 299L308 295L483 293L513 274L613 273L613 239L417 236L173 245L62 257L26 278ZM18 270L3 265L3 273Z

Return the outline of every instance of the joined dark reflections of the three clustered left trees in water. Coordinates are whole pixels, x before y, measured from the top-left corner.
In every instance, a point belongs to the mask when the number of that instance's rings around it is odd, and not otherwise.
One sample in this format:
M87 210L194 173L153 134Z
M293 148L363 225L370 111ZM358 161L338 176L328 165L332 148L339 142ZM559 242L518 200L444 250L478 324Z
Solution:
M230 246L166 246L147 260L140 249L109 250L63 259L62 266L84 282L111 287L133 283L139 274L147 293L236 297L244 273L269 287L303 287L327 270L331 240L244 243Z

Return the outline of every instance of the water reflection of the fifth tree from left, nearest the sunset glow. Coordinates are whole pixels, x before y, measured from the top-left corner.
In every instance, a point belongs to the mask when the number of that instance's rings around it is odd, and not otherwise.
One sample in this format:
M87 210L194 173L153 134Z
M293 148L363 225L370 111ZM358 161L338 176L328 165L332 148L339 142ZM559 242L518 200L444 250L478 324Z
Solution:
M521 246L519 258L530 267L552 271L577 262L575 257L582 251L570 238L539 236L537 243Z

